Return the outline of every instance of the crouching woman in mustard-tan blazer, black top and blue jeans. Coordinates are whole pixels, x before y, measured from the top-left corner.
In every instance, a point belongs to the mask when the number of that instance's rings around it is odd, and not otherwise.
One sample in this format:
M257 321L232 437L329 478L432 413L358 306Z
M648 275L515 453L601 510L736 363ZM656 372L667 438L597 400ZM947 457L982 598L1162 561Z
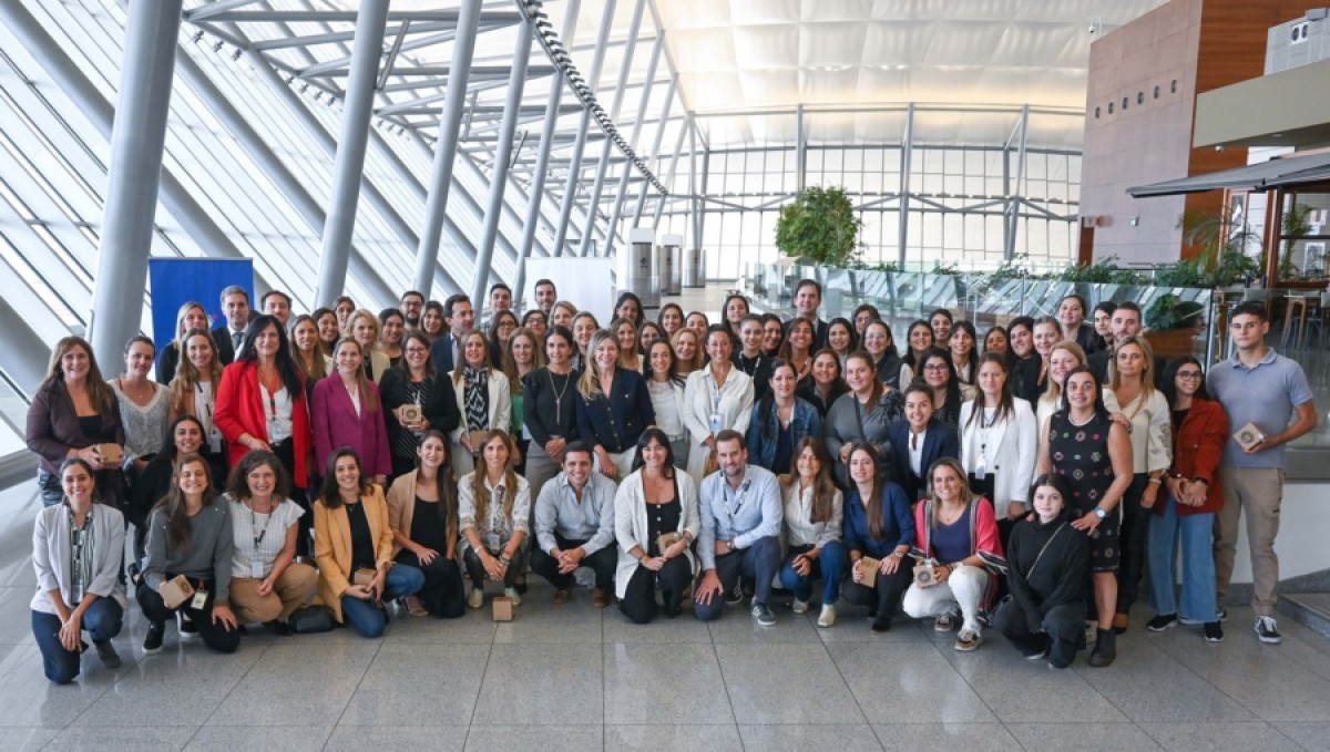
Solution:
M323 493L314 502L314 561L319 602L360 636L382 635L388 626L384 603L424 586L424 574L414 566L394 566L392 553L383 492L360 472L354 449L338 449L329 457Z

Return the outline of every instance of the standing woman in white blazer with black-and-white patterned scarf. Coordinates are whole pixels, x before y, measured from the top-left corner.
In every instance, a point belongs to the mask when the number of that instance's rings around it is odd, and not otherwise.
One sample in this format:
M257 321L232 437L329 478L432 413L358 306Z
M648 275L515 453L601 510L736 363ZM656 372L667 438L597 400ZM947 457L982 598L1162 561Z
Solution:
M489 341L480 329L462 335L462 364L451 373L451 380L462 420L450 436L448 458L454 477L460 478L476 469L480 446L472 448L472 432L508 433L512 426L512 391L508 377L491 368ZM515 466L520 462L520 457L512 458Z

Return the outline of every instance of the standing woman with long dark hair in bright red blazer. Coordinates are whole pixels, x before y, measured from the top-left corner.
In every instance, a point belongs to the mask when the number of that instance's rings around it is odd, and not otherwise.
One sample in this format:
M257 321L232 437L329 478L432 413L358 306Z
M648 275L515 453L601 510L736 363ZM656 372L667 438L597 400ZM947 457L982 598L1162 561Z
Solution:
M222 371L213 416L230 445L233 468L251 449L267 449L298 489L309 488L313 441L303 381L281 322L270 315L250 322L235 363Z

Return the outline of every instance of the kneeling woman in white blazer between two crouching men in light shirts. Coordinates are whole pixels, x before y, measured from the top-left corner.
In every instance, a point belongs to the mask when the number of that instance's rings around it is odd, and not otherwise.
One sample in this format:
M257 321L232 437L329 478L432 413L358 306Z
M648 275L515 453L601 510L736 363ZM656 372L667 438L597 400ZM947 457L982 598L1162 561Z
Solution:
M669 437L648 428L637 441L633 473L614 494L618 609L633 623L656 618L656 591L674 618L693 579L693 541L700 526L697 486L674 466Z

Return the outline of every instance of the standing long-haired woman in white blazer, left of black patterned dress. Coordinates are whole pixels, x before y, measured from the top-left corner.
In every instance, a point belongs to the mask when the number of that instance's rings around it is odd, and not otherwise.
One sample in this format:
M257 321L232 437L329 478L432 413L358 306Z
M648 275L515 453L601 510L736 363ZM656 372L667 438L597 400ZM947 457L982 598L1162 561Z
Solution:
M960 464L970 488L992 501L998 518L1015 521L1029 504L1039 434L1035 411L1011 396L1007 377L1000 355L979 359L979 396L960 407Z

